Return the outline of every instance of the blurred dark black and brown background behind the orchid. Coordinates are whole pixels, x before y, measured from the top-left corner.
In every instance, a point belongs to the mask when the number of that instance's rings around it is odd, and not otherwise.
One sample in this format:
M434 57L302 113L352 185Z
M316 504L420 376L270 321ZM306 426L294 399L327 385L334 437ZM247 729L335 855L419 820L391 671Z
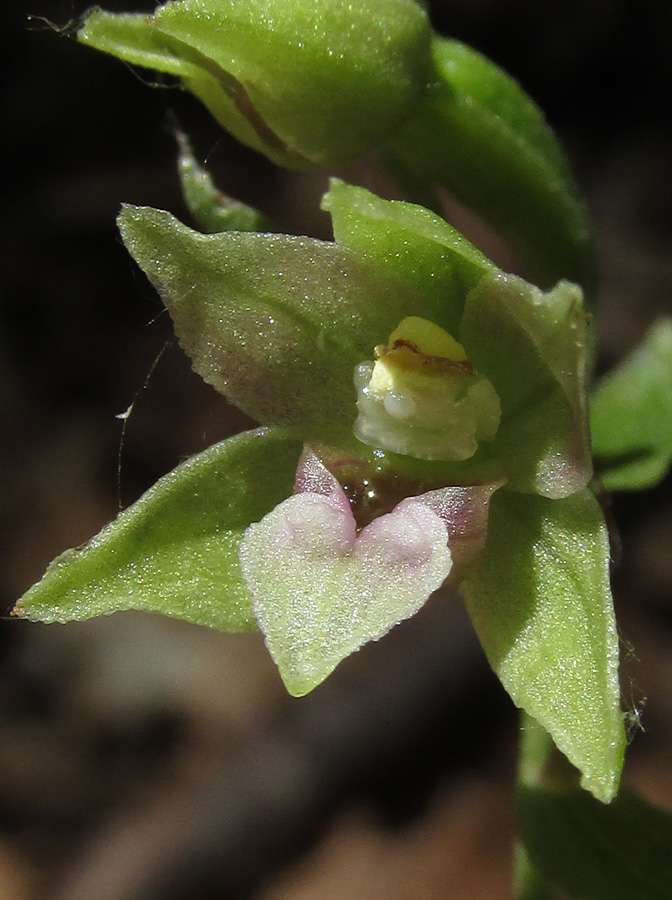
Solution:
M170 115L224 190L329 236L325 176L275 171L189 96L77 45L84 9L3 13L5 611L120 503L244 426L190 372L115 232L123 201L187 218ZM522 82L572 158L598 234L604 369L672 312L672 6L456 0L432 15ZM390 189L370 166L342 174ZM115 415L134 399L120 452ZM624 703L646 729L626 780L672 808L669 480L612 513ZM515 716L459 600L302 701L257 636L136 614L0 626L2 900L509 896Z

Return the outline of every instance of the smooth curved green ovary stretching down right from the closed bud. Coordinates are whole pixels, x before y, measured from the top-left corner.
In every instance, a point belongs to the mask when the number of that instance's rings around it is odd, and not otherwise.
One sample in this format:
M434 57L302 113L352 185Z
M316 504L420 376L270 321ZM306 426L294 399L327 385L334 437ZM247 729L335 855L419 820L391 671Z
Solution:
M591 290L588 217L538 107L490 60L435 37L434 77L391 152L411 176L446 187L515 247L526 274L550 288Z

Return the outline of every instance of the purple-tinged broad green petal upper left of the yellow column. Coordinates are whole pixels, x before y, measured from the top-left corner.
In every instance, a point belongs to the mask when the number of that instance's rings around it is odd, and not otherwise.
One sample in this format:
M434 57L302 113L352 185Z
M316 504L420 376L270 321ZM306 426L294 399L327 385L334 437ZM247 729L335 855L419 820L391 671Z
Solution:
M119 227L196 372L259 422L306 437L349 434L355 366L405 316L436 312L435 298L332 243L202 235L129 206Z

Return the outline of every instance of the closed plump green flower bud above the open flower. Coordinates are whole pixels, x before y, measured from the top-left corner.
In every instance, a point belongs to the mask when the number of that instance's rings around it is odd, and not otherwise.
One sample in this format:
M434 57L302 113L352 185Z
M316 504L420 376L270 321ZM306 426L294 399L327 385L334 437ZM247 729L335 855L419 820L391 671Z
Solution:
M385 143L430 64L416 0L181 0L153 16L94 10L78 37L177 75L239 140L296 169Z

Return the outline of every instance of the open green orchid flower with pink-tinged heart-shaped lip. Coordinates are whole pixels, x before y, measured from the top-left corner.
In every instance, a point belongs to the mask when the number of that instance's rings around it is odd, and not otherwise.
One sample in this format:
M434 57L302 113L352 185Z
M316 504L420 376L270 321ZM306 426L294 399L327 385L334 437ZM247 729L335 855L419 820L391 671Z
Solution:
M324 206L334 242L202 235L167 212L123 210L124 242L194 368L270 431L176 470L17 611L53 621L142 605L142 572L143 608L225 629L252 610L298 695L448 576L513 700L608 801L624 730L606 529L587 489L581 291L500 272L418 206L339 181ZM437 373L456 403L487 380L487 429L453 423L470 429L468 458L423 452L422 402L409 455L355 439L355 369L390 336L414 373L399 383L430 398L432 440ZM386 396L395 377L379 373L376 390L396 414L408 398Z

